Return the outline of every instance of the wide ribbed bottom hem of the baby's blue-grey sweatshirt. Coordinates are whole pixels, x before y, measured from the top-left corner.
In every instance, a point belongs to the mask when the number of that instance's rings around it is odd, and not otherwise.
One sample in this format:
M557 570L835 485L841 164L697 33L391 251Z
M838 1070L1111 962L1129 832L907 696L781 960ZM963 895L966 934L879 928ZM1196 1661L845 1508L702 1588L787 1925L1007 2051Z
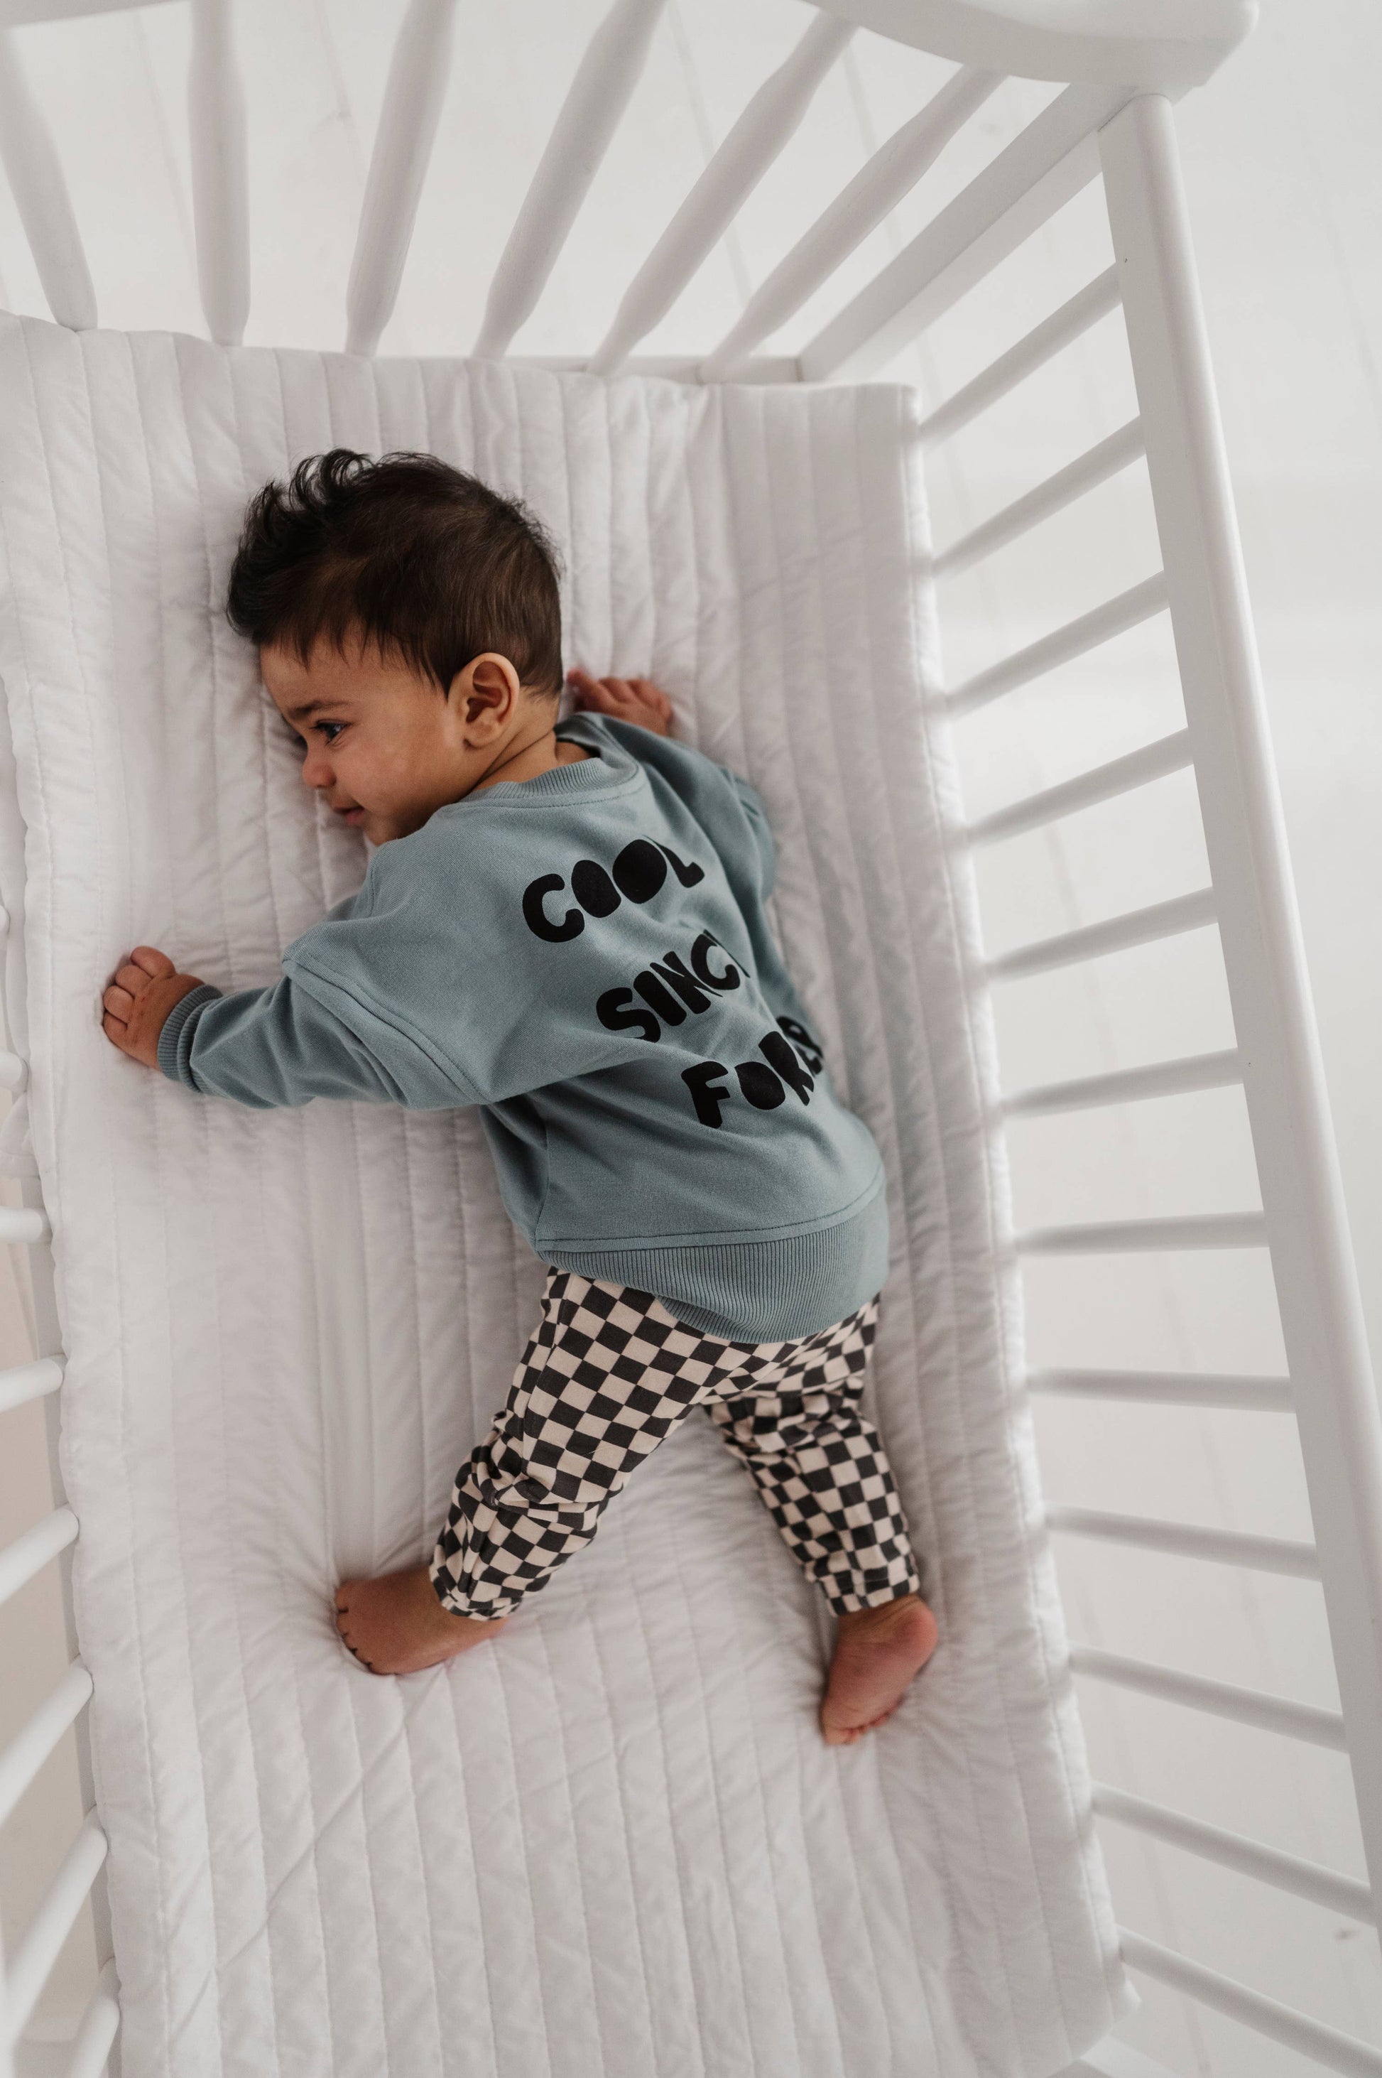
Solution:
M887 1278L887 1193L835 1226L786 1241L675 1249L542 1249L557 1270L661 1299L698 1334L723 1342L796 1342L875 1299ZM694 1301L690 1299L694 1293Z

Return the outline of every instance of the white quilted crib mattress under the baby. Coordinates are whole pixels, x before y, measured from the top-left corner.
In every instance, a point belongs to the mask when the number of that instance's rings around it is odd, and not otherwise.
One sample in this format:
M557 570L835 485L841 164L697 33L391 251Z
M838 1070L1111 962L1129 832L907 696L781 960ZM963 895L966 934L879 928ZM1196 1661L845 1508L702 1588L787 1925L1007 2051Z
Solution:
M1124 2009L923 713L914 428L904 389L0 320L0 896L125 2078L1039 2078ZM341 1573L430 1550L538 1266L474 1116L245 1112L98 1027L131 943L264 983L362 877L220 613L247 492L330 445L530 499L567 657L648 671L769 804L790 964L887 1157L877 1409L941 1627L854 1750L815 1729L823 1606L700 1421L493 1648L378 1681L337 1642Z

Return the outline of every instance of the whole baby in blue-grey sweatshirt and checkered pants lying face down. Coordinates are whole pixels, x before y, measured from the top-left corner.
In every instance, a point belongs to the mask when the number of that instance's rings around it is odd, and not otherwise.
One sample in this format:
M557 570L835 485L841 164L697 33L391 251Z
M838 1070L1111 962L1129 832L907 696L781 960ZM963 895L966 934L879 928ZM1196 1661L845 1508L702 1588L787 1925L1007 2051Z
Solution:
M137 945L104 1031L237 1103L478 1105L549 1263L430 1565L343 1581L341 1637L376 1675L495 1637L705 1407L838 1617L821 1731L852 1743L935 1623L860 1411L883 1170L773 941L759 796L669 740L646 680L572 673L557 721L551 547L430 455L337 449L266 484L227 611L370 869L266 989Z

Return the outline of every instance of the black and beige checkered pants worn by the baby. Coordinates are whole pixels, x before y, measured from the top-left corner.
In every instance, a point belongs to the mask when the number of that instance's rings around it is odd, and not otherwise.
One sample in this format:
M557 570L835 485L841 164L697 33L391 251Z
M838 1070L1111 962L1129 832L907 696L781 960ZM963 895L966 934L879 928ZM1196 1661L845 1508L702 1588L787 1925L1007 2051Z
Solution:
M659 1442L705 1407L835 1613L919 1592L902 1502L860 1413L877 1299L798 1342L719 1342L648 1293L549 1270L495 1428L461 1465L432 1586L507 1617L599 1529Z

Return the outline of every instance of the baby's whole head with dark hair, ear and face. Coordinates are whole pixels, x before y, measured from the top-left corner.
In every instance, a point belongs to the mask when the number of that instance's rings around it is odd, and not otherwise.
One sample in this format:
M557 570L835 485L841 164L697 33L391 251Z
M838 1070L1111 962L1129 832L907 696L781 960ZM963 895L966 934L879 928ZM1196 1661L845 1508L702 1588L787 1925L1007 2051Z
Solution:
M264 484L227 613L308 746L303 781L374 844L557 719L553 549L522 505L434 455L339 447Z

